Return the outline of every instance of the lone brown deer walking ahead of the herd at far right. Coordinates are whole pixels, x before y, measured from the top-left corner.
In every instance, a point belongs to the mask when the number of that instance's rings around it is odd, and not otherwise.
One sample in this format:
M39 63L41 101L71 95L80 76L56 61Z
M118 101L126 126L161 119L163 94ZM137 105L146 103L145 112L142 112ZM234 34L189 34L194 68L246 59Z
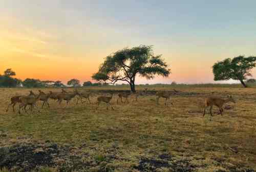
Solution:
M217 106L220 110L220 112L218 114L221 114L222 115L222 112L223 112L223 108L222 106L225 104L225 103L228 103L228 102L233 102L233 103L236 103L232 96L228 96L227 99L220 99L219 97L208 97L206 100L205 100L205 106L204 106L204 114L203 116L205 115L205 109L207 107L210 107L209 111L210 111L210 115L212 116L212 107L213 106Z

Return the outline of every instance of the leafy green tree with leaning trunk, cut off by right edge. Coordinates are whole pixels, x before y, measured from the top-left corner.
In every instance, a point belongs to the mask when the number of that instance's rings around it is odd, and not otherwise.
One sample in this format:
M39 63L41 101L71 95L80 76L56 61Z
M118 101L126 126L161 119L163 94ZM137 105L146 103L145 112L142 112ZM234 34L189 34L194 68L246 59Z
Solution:
M244 80L251 76L250 69L255 67L256 57L238 56L233 59L227 58L223 61L217 62L212 66L214 73L214 80L239 80L244 87L247 85Z

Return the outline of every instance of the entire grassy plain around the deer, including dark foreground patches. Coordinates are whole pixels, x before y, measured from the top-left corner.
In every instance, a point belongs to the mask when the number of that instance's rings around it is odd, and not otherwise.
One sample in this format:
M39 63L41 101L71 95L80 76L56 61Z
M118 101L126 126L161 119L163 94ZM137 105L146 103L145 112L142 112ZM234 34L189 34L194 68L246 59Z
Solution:
M172 86L148 87L173 90ZM254 171L256 169L256 88L175 86L168 107L144 93L130 103L96 110L98 90L89 87L92 104L76 97L66 108L50 100L26 114L6 108L10 97L30 89L0 88L0 168L2 171ZM143 87L137 87L144 90ZM32 89L38 92L38 89ZM42 91L60 91L43 88ZM72 89L67 89L72 91ZM202 116L205 97L232 95L223 116ZM84 100L86 101L86 100ZM41 106L41 102L37 103ZM5 168L4 168L5 167ZM0 170L1 171L1 170Z

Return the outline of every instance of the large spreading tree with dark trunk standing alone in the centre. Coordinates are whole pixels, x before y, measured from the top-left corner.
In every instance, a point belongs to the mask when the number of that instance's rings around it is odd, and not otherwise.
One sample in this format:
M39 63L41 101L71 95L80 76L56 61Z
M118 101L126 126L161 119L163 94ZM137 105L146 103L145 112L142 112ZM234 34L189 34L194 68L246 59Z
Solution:
M161 55L154 56L152 46L140 45L123 48L106 57L92 78L108 84L125 81L135 92L136 76L153 79L155 75L168 77L169 74L170 69Z

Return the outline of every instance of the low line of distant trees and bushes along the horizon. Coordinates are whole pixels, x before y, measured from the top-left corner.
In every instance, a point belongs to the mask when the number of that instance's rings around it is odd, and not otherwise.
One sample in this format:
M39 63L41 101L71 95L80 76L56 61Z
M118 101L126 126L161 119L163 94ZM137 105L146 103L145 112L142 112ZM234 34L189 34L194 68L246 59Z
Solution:
M3 75L0 75L0 87L26 87L26 88L44 88L44 87L88 87L88 86L129 86L129 84L115 84L115 85L110 85L107 83L101 83L101 82L96 82L92 83L91 81L86 81L83 82L82 85L80 84L80 81L78 79L71 79L68 81L67 85L63 84L61 81L40 81L39 79L32 79L32 78L27 78L24 81L14 78L16 76L15 71L13 71L11 68L6 69L4 71ZM249 85L254 85L256 84L255 79L248 79L246 81L247 84ZM137 84L138 86L147 86L147 87L154 87L154 86L237 86L240 84L212 84L212 83L206 83L206 84L183 84L179 83L177 84L175 81L173 81L170 84Z

